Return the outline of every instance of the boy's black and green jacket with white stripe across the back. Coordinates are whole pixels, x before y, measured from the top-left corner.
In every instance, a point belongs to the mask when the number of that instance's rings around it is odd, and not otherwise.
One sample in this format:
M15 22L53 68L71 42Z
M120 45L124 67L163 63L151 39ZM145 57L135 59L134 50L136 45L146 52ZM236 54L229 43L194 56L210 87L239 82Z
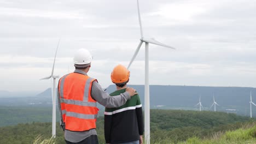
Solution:
M125 92L120 89L111 93L111 96ZM106 143L125 143L139 140L143 135L143 114L139 95L136 94L127 100L123 106L107 108L104 112L104 133Z

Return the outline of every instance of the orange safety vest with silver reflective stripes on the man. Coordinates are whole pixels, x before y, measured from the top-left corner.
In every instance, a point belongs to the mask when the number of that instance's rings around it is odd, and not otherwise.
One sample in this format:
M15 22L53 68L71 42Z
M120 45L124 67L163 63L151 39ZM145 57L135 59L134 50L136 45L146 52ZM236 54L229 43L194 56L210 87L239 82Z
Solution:
M61 77L58 90L65 129L85 131L96 128L98 108L96 100L91 97L91 86L95 80L79 73Z

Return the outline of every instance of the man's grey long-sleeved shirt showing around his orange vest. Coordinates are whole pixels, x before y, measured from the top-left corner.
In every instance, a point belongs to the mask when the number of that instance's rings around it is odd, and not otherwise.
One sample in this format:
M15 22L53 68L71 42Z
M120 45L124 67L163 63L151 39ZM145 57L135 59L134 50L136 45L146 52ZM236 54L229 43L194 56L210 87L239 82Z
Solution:
M87 75L84 71L77 70L77 69L74 71L74 73ZM126 103L127 100L131 99L130 94L128 92L122 93L115 97L110 97L110 95L107 92L103 91L102 87L100 86L100 84L98 84L97 81L92 82L91 97L101 105L109 108L122 106ZM58 107L61 115L61 121L63 122L61 107L60 107L59 92L58 92L57 99L58 99ZM97 135L96 129L90 129L90 130L81 131L81 132L65 130L65 140L70 142L79 142L91 135Z

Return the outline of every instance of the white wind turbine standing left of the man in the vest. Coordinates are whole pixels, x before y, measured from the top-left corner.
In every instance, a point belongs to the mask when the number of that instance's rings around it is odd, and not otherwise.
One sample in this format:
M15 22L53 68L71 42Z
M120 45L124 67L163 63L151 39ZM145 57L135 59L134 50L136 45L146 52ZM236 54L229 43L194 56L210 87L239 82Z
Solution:
M56 78L58 78L59 76L53 75L54 74L54 65L55 65L55 59L56 59L56 55L57 55L57 50L60 44L60 39L57 45L57 49L55 52L55 57L54 57L54 64L53 64L53 70L51 70L51 75L48 77L44 77L43 79L40 80L47 80L50 79L51 77L53 77L53 91L51 93L52 95L52 100L53 100L53 122L52 122L52 136L55 138L56 137Z

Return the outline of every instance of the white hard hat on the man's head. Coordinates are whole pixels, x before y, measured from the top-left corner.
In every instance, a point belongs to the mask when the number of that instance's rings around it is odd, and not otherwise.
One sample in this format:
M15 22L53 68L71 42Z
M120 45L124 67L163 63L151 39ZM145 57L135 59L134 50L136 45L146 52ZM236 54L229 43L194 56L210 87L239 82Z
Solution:
M92 61L91 53L86 49L79 49L74 55L74 66L75 67L87 67Z

